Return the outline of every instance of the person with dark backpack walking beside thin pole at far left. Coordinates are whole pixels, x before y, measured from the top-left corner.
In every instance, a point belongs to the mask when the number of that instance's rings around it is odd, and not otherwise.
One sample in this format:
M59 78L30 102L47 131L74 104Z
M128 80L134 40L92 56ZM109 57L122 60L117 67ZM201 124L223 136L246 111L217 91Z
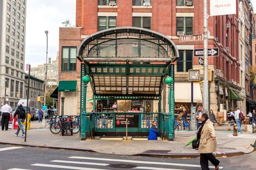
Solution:
M25 132L23 129L23 123L24 120L26 119L26 111L23 108L22 104L18 103L18 108L16 109L15 113L14 113L14 117L16 117L17 115L17 120L18 120L18 130L17 132L14 134L15 137L18 137L19 131L22 130L22 138L25 137Z

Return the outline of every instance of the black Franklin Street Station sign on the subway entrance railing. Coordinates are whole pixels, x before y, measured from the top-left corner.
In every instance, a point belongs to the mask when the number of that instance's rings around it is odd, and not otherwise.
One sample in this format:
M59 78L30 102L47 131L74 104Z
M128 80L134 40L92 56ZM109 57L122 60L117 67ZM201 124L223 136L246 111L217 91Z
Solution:
M138 114L116 114L116 128L125 128L126 119L128 127L139 127Z

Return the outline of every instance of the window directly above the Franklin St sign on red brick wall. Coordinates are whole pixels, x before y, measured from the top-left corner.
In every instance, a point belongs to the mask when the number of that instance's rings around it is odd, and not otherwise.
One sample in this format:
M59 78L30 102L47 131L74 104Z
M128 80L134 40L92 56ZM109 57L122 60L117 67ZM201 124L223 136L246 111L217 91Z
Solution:
M193 17L177 17L177 32L184 31L184 35L193 34Z

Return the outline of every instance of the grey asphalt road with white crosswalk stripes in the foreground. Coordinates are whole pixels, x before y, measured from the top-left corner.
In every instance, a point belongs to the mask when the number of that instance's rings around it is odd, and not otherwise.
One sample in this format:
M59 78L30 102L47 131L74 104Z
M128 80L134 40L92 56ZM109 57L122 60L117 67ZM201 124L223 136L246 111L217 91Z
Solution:
M111 146L106 146L111 147ZM222 169L256 169L256 152L219 158ZM211 165L211 164L210 164ZM129 166L131 168L129 168ZM201 169L199 159L132 157L0 145L0 169ZM214 167L212 166L212 168Z

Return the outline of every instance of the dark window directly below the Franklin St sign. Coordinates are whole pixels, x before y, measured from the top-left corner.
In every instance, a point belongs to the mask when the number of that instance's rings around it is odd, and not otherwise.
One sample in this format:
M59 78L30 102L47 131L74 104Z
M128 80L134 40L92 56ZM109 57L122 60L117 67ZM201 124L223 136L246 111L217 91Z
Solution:
M177 72L187 72L192 69L192 50L179 50L179 58L177 60Z

